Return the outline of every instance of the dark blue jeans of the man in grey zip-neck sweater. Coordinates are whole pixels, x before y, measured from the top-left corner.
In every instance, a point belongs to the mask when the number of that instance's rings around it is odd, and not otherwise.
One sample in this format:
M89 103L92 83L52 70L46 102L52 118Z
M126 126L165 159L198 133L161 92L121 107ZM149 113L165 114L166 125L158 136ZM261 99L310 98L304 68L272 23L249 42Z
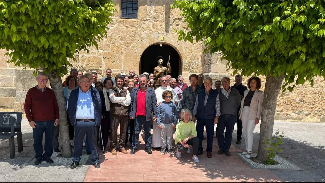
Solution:
M219 149L229 150L232 139L232 132L234 131L235 123L237 122L237 114L226 116L220 115L218 122L218 145ZM224 131L226 128L225 136Z

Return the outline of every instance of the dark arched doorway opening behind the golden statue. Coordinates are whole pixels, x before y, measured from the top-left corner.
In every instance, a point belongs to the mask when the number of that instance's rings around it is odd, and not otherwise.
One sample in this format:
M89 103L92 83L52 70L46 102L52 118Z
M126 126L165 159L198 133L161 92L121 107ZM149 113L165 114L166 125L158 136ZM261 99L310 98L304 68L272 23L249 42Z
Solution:
M177 79L177 76L182 74L182 60L177 50L166 43L156 43L147 47L140 58L139 73L148 72L153 73L153 69L157 67L157 57L162 56L164 61L162 66L167 67L167 62L170 54L170 66L172 72L170 75Z

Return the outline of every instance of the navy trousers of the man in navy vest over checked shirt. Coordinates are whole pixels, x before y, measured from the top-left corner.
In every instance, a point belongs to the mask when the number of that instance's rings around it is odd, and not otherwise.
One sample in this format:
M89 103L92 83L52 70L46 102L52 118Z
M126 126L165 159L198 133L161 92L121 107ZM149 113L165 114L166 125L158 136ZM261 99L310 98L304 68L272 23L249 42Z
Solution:
M201 119L197 118L196 131L198 133L197 137L199 138L199 151L203 151L202 139L203 139L203 130L205 125L206 130L206 151L212 152L213 144L213 135L214 135L214 119Z

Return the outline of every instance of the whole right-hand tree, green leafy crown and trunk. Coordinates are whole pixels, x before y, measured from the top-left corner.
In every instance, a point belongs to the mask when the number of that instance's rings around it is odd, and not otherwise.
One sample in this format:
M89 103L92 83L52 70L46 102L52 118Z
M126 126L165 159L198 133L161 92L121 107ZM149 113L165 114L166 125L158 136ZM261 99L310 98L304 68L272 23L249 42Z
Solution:
M178 31L179 40L222 51L234 73L266 76L257 154L265 160L281 85L292 91L325 78L324 1L175 1L171 8L182 10L189 29Z

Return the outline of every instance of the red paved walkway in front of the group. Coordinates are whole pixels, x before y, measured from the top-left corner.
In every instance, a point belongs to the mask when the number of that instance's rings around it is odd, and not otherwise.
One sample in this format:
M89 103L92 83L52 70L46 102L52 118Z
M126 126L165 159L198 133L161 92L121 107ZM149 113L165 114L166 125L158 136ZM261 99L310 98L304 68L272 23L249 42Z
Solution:
M144 137L142 135L142 137ZM181 158L174 155L160 154L153 150L153 154L144 151L144 140L140 136L141 144L136 154L110 152L100 155L101 168L90 165L84 182L280 182L278 176L269 170L251 169L241 161L234 152L239 149L231 146L231 157L218 155L217 140L214 138L212 158L206 157L206 152L199 155L200 163L192 161L191 154L182 154ZM205 147L206 140L203 140ZM175 149L174 149L175 150ZM101 153L102 151L100 151Z

